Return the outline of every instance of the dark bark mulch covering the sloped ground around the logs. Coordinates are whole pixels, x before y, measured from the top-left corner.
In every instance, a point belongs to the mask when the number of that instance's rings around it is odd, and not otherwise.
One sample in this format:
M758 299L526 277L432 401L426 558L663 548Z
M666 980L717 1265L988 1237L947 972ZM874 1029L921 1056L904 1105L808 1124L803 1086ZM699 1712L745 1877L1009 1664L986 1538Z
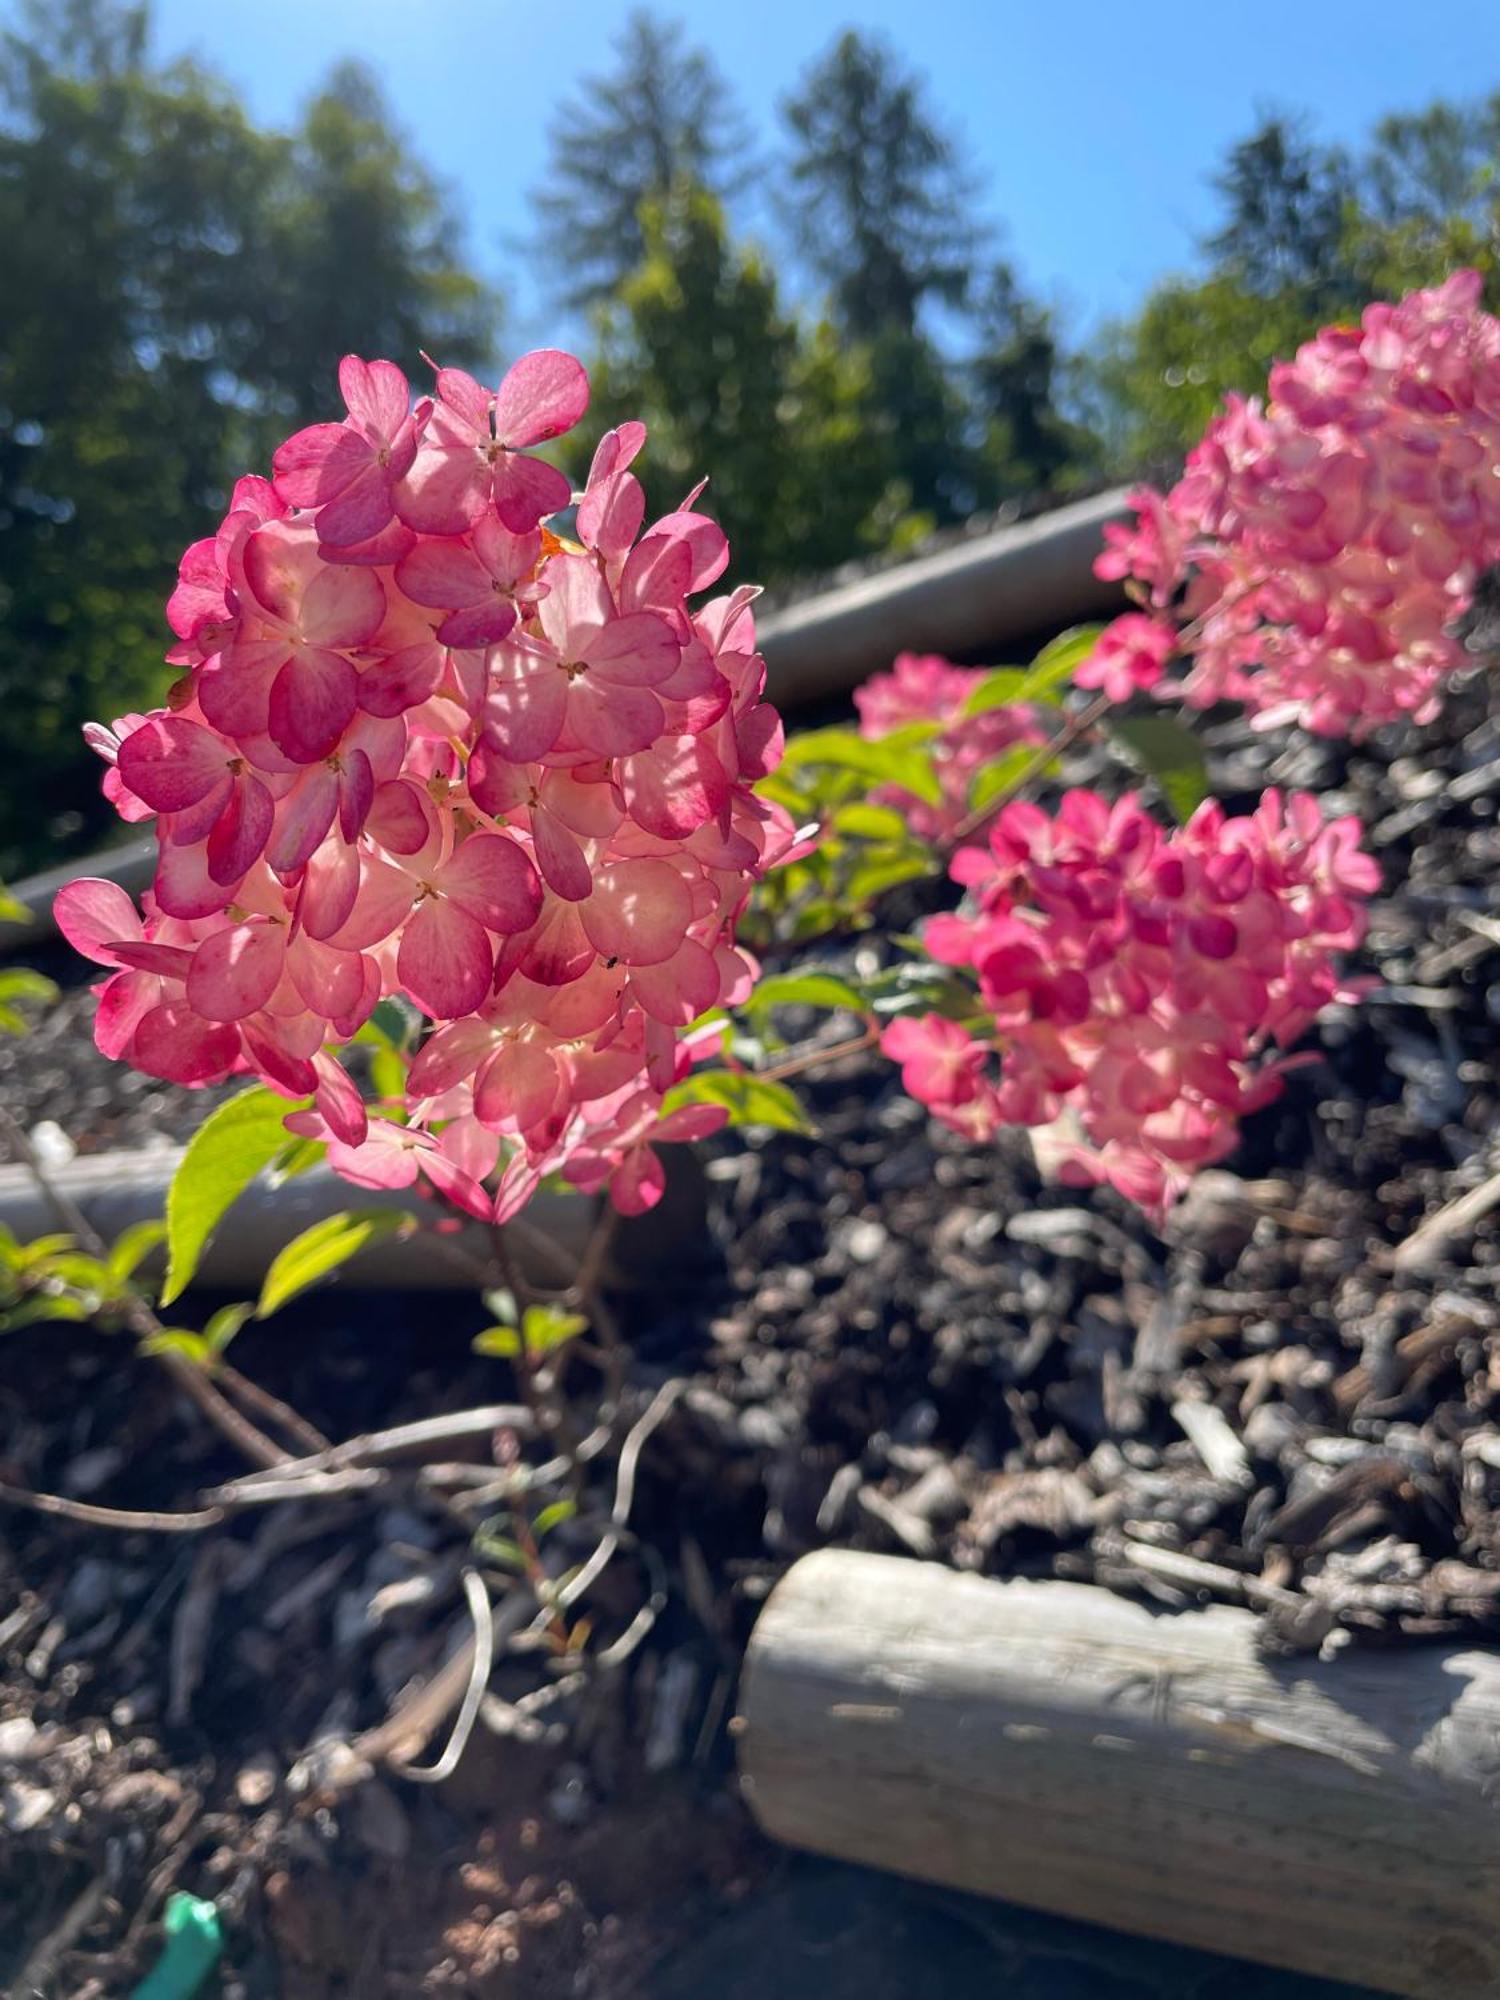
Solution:
M1280 1652L1500 1630L1500 726L1476 684L1432 730L1354 752L1226 724L1214 764L1236 804L1270 778L1362 816L1388 880L1382 990L1326 1022L1164 1236L1044 1186L1020 1136L934 1134L868 1060L804 1078L814 1140L712 1150L706 1228L666 1248L636 1228L612 1294L620 1432L640 1428L628 1534L574 1614L602 1666L506 1612L520 1516L492 1438L444 1446L470 1462L446 1484L404 1464L202 1536L4 1518L0 1988L24 1990L52 1938L46 1992L128 1992L184 1888L218 1900L216 1990L246 2000L750 1992L744 1944L712 1960L692 1940L726 1906L748 1936L808 1896L822 1994L860 1964L866 2000L916 1994L860 1958L862 1926L908 1906L884 1890L852 1918L840 1872L778 1886L732 1792L746 1632L826 1542L1248 1602ZM16 1116L94 1146L192 1126L198 1104L100 1064L84 1032L72 994L0 1048ZM508 1364L470 1350L482 1324L466 1296L336 1292L234 1360L346 1438L512 1396ZM588 1358L568 1382L586 1428ZM598 1548L616 1468L616 1448L588 1460L548 1566ZM124 1338L0 1344L0 1480L182 1508L240 1472ZM362 1736L468 1640L474 1548L498 1664L458 1774L426 1786ZM350 1782L362 1756L374 1776ZM932 1990L968 1992L958 1960L1000 1918L950 1898L910 1922L928 1954L962 1934ZM1088 1970L1078 1932L1028 1932L1012 1962L996 1936L982 1978L1010 1964L1016 1992L1316 1990L1136 1946ZM1026 1954L1058 1950L1082 1958L1026 1986Z

